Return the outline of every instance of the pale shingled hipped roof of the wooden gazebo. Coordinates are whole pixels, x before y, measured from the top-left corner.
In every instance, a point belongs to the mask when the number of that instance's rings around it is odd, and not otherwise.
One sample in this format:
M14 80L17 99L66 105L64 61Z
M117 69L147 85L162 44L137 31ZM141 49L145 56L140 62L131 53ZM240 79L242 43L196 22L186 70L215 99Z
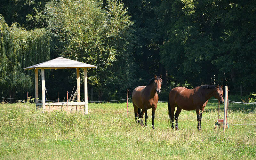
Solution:
M53 60L49 60L43 63L39 63L27 68L23 68L24 70L30 69L58 69L58 68L97 68L97 66L78 62L76 60L69 60L63 57L58 57Z

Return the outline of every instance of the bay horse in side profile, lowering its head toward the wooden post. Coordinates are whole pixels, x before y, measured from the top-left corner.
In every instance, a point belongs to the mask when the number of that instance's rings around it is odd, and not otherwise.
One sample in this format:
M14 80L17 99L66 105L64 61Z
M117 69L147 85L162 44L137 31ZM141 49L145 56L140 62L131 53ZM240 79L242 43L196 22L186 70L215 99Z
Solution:
M223 86L219 85L202 85L197 86L194 89L187 89L185 87L175 87L173 88L168 97L168 111L170 122L173 127L173 118L175 119L175 128L178 130L178 117L183 110L195 110L197 116L197 129L201 130L201 120L202 113L204 112L204 107L206 106L208 100L213 96L220 101L222 104L223 100ZM174 115L175 107L177 110Z

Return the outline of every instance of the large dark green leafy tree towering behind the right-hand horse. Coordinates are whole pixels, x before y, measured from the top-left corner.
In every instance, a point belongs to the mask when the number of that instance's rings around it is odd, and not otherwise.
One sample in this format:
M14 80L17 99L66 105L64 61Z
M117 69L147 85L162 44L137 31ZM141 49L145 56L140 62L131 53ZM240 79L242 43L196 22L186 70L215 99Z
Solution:
M252 1L162 1L159 10L161 60L177 83L256 89Z

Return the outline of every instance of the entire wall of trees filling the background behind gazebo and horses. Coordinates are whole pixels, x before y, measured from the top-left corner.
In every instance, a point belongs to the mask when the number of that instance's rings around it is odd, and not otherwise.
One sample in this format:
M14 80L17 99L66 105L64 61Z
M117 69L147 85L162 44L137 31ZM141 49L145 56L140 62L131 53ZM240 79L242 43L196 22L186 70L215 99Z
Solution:
M201 84L250 95L255 26L254 0L1 0L0 96L35 97L34 71L22 68L57 57L98 66L88 70L88 100L124 99L155 74L159 100ZM75 69L45 75L47 100L76 88Z

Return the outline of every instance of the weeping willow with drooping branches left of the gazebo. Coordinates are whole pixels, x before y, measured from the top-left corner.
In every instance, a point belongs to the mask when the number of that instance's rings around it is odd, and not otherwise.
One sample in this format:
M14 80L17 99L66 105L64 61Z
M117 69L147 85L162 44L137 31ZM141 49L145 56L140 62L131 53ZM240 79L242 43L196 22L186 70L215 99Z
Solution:
M0 87L1 95L15 97L33 88L32 74L22 68L50 58L50 38L44 29L27 31L14 23L9 27L0 15Z

